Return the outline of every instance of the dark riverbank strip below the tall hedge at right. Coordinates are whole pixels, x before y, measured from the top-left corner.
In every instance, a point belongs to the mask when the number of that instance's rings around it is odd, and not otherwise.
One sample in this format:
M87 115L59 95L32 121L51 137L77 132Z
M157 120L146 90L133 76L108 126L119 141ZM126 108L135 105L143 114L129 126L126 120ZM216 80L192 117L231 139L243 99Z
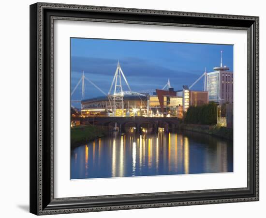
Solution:
M181 124L181 130L205 133L226 140L233 140L233 129L217 125Z

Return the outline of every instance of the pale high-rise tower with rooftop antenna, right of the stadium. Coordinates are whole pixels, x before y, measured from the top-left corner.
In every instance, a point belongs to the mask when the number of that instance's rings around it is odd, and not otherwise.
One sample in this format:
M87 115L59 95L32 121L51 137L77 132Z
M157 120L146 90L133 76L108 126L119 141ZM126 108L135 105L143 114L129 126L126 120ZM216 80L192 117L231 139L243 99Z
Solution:
M207 73L206 91L209 93L209 101L219 104L233 103L233 72L227 66L214 67L213 72Z

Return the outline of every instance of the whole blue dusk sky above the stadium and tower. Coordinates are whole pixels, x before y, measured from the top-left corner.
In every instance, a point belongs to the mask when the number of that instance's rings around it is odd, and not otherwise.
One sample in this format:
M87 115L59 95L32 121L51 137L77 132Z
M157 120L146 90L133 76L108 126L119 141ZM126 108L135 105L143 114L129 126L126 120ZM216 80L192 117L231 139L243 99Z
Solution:
M205 67L207 72L223 65L233 70L233 46L194 43L169 43L131 40L71 38L71 88L85 76L108 93L118 60L132 91L162 89L170 78L175 90L191 85ZM203 81L193 89L202 90ZM85 82L85 98L103 95ZM72 100L80 100L81 86Z

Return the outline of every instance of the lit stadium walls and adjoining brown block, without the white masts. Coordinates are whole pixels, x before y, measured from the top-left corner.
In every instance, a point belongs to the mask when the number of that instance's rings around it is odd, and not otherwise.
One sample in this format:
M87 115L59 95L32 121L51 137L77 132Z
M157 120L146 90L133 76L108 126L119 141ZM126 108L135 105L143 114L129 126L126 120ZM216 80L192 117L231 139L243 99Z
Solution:
M153 94L123 96L124 108L116 110L115 116L144 116L144 117L178 117L182 118L183 113L190 106L200 106L208 103L208 93L192 91L188 86L183 90L174 91L156 89ZM82 116L112 116L112 100L108 96L81 101Z

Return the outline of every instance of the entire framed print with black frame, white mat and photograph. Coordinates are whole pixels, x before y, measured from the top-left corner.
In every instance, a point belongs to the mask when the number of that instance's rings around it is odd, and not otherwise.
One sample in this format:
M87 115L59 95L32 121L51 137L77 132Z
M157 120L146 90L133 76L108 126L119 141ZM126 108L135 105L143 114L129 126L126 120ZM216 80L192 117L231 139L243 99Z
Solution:
M259 200L259 17L30 5L30 212Z

